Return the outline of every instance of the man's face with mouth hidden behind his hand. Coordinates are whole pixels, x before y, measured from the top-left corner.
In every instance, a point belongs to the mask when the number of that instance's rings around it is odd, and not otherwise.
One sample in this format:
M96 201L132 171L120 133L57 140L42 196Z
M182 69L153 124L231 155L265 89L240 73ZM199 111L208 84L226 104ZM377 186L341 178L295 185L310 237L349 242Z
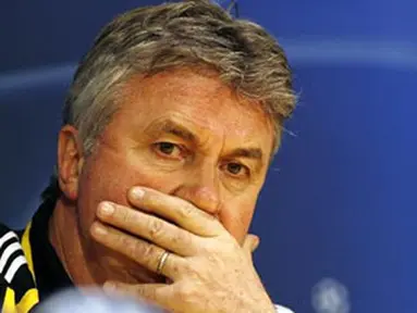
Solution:
M78 183L87 259L106 272L119 271L112 278L131 280L132 273L121 268L133 265L96 243L89 227L101 201L128 205L133 186L192 202L243 242L273 142L272 124L259 105L236 97L213 73L188 70L133 77L119 100Z

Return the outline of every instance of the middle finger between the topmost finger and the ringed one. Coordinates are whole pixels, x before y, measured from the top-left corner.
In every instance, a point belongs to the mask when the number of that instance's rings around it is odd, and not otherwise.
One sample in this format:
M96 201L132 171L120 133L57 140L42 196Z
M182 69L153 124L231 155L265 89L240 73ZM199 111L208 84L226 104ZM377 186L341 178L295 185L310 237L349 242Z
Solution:
M100 203L97 216L182 256L195 255L199 247L196 241L201 239L157 216L112 202Z

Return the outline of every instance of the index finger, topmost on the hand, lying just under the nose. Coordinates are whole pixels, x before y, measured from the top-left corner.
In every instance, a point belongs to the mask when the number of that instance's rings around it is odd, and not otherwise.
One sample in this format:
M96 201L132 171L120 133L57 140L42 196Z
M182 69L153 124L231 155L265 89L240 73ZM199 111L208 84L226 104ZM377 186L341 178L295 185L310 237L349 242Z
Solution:
M214 216L179 197L143 187L133 188L128 197L133 205L172 221L195 235L216 237L225 231Z

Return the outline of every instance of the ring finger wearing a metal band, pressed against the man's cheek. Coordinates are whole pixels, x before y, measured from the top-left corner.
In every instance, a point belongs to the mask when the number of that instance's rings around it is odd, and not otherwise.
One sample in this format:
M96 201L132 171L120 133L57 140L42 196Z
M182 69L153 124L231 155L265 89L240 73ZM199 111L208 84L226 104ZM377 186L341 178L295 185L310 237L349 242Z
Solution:
M146 242L140 238L125 234L113 227L95 222L91 226L93 238L105 247L122 253L146 268L157 272L158 264L165 250ZM176 280L180 277L180 268L185 267L185 259L170 253L165 260L161 274Z

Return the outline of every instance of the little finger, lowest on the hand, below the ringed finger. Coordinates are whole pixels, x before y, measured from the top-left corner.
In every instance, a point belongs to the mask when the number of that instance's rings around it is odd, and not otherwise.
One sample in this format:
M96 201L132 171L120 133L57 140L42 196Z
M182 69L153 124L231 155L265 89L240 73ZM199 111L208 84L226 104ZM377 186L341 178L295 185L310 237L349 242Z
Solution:
M173 288L165 284L140 284L131 285L121 281L106 281L103 290L108 295L125 295L128 297L140 298L152 304L167 310L172 310Z

